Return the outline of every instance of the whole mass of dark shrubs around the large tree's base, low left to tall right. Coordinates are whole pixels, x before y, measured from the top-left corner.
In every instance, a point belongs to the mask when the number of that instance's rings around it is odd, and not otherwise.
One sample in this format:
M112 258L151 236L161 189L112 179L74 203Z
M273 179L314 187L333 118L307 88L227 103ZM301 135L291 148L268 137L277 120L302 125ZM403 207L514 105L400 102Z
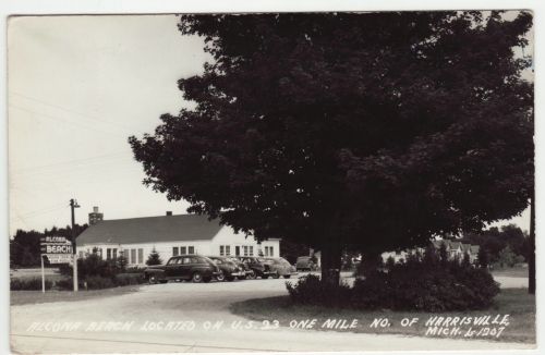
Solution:
M316 276L302 278L295 285L287 283L287 287L293 302L322 306L425 311L489 307L499 287L488 271L440 254L428 249L427 255L367 268L365 279L355 280L352 289L325 284Z

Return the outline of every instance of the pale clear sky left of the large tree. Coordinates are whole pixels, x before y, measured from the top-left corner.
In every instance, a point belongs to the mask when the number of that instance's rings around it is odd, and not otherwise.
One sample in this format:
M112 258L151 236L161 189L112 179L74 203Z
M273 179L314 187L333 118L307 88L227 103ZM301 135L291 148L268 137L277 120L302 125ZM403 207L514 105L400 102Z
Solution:
M209 60L174 15L12 17L8 27L10 233L105 219L185 213L142 184L128 137L190 103L177 81ZM511 221L529 230L529 211Z

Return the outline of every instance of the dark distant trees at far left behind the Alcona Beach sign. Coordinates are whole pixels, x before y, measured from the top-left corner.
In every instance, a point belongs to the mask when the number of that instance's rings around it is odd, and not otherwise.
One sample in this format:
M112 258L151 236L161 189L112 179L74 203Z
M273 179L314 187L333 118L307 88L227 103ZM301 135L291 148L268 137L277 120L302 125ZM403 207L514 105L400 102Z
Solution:
M75 235L80 235L87 224L76 224ZM10 238L10 267L36 267L40 265L40 245L39 240L41 236L72 236L72 228L53 227L50 230L46 229L44 232L35 230L23 231L17 230L15 235Z

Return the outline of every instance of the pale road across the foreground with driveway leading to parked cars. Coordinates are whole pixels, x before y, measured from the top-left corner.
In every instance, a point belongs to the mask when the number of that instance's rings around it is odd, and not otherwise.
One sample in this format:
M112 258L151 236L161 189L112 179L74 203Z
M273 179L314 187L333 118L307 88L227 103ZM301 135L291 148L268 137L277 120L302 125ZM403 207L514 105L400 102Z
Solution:
M286 294L284 280L223 283L168 283L144 285L138 292L82 302L11 307L11 341L16 353L166 353L251 351L379 351L522 348L525 344L450 339L340 333L334 331L231 329L247 320L229 311L229 304L247 298ZM223 321L220 329L204 330L206 321ZM83 322L72 330L52 327ZM93 322L133 322L125 330L89 331ZM172 321L172 329L145 329ZM185 322L184 321L189 321ZM41 323L39 323L41 322ZM49 323L47 323L49 322ZM193 330L180 329L182 327ZM105 323L102 323L105 325ZM121 326L121 323L116 323ZM75 326L74 326L75 327ZM94 328L96 329L96 327Z

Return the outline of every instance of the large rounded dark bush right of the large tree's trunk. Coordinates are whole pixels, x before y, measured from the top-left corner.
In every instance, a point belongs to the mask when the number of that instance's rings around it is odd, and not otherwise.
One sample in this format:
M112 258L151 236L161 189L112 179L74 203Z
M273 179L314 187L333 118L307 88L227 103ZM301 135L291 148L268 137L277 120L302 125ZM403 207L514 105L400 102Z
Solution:
M459 260L410 258L356 280L352 304L396 310L468 310L491 306L499 292L486 269Z

